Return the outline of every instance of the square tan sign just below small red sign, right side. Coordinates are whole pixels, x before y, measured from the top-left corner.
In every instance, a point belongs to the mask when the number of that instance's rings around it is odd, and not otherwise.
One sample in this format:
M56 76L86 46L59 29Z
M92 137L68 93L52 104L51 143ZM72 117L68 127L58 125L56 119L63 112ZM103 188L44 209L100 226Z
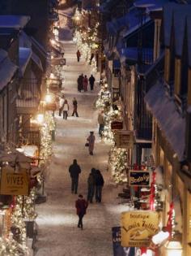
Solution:
M134 131L116 131L114 139L118 148L132 149L134 147Z

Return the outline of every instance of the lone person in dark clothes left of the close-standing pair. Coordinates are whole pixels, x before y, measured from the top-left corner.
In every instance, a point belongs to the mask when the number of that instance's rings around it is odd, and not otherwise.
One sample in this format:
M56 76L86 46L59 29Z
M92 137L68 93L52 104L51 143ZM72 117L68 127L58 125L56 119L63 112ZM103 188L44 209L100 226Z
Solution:
M71 193L77 193L79 185L79 173L81 173L81 168L79 167L76 159L74 159L73 164L70 165L69 172L71 177Z

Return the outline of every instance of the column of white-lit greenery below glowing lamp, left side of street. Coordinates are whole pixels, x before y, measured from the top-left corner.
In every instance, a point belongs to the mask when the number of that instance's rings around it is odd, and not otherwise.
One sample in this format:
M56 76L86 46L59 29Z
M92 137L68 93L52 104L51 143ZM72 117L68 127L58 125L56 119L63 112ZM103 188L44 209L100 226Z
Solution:
M46 111L45 122L40 128L40 158L46 161L52 154L52 135L51 132L55 129L53 115Z

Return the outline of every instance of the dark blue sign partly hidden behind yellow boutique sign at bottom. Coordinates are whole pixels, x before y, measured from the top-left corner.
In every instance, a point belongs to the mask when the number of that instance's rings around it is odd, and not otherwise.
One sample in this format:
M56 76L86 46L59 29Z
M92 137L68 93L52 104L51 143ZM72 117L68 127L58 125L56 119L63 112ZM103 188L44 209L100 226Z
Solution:
M121 246L121 227L112 228L113 256L134 256L136 248Z

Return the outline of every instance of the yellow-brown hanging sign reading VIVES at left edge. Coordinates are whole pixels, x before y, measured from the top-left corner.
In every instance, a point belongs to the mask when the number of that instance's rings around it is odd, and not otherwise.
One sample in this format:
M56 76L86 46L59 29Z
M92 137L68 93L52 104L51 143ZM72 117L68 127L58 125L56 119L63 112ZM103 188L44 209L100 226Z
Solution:
M28 195L28 172L14 172L2 168L1 194L3 195Z

